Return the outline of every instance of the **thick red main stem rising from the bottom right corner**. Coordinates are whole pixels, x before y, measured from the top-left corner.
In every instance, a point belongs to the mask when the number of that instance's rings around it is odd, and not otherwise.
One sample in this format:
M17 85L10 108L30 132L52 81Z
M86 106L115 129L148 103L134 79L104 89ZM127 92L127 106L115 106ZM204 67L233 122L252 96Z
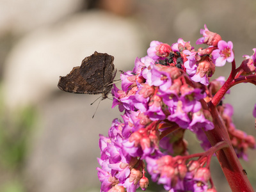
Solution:
M214 106L211 101L208 104L213 119L212 122L214 124L214 129L205 131L205 134L212 146L221 141L225 141L228 144L227 148L218 150L216 152L216 156L220 162L221 169L223 170L232 192L253 192L252 185L243 172L243 167L241 166L236 152L232 147L227 128L225 127L216 106Z

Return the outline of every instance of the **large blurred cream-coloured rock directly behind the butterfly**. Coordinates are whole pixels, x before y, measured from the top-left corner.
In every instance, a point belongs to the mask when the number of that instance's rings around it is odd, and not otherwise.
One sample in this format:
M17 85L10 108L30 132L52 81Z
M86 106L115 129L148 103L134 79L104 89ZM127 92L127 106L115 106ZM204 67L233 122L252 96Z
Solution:
M75 15L29 33L13 47L5 63L7 106L16 108L44 99L58 90L59 76L66 76L94 51L113 55L118 70L132 69L136 56L145 55L134 22L107 12Z

